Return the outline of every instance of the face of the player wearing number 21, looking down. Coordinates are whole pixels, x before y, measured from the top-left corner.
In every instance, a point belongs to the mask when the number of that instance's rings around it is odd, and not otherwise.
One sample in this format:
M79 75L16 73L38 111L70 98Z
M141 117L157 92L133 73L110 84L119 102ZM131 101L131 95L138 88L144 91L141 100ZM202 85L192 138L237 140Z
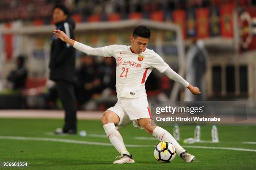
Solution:
M136 54L140 54L148 46L148 38L131 36L131 48Z

